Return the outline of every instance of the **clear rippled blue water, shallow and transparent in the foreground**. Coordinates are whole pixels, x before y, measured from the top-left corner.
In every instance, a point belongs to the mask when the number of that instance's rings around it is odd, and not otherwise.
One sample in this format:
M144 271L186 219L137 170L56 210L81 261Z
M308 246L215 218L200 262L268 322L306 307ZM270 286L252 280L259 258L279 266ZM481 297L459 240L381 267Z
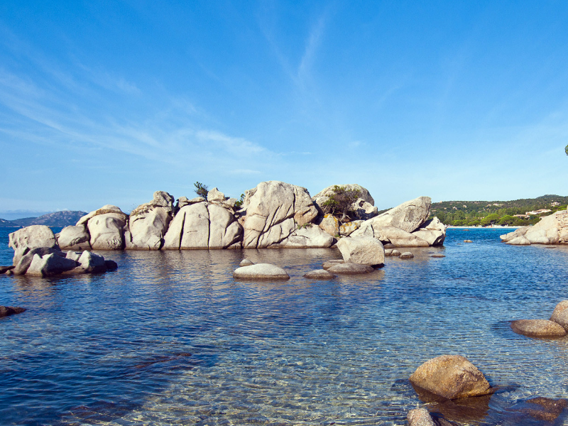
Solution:
M405 425L425 405L408 376L461 354L503 391L450 418L544 425L509 407L568 398L568 339L528 339L508 321L568 299L568 248L506 246L501 233L450 229L444 248L329 281L302 275L341 257L331 249L103 252L117 271L0 275L0 305L28 309L0 320L0 423ZM244 256L292 278L235 281Z

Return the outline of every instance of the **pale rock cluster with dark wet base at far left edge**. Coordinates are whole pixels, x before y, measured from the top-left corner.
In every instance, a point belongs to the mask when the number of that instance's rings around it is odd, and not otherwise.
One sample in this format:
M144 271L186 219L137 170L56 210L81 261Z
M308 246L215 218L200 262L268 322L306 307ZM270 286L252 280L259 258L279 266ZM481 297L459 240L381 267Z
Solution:
M62 251L53 231L45 225L32 225L9 235L14 250L12 266L0 267L1 273L48 277L101 273L116 269L114 261L90 251Z

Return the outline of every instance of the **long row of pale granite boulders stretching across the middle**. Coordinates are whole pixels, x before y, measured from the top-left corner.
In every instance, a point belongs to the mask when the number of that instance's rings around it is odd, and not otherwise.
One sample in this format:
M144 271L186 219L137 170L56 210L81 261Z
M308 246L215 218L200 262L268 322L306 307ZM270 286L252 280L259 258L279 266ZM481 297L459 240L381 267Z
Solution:
M437 218L428 220L429 197L378 214L368 190L344 186L361 193L352 205L358 219L347 223L323 214L320 207L333 186L310 197L304 187L272 180L246 191L240 207L217 188L207 198L180 197L177 202L157 191L130 214L105 205L62 229L56 239L66 250L326 248L353 236L370 236L387 246L443 244L445 226Z

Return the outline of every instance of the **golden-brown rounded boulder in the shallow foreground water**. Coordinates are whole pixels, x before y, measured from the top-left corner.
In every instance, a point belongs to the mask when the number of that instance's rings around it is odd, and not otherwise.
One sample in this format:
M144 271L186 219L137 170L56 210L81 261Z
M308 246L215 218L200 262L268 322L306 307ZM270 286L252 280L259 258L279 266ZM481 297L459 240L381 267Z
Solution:
M447 399L494 392L483 373L459 355L442 355L426 361L410 376L410 383Z

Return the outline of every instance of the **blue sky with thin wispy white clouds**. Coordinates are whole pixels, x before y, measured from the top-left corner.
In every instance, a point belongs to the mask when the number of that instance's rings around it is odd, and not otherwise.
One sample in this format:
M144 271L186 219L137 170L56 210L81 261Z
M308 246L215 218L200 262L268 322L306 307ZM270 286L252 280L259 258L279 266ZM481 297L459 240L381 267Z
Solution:
M3 1L0 217L195 181L568 195L567 28L563 1Z

